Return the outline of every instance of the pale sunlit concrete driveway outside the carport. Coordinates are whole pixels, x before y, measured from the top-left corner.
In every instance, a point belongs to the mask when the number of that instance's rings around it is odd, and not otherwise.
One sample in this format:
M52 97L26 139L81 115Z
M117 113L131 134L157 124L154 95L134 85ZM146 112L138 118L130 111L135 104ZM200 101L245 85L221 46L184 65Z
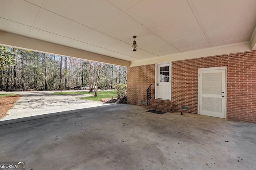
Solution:
M103 102L79 98L92 96L94 93L86 95L53 95L52 93L54 92L61 91L0 92L1 94L15 93L21 96L14 107L8 111L8 115L0 119L0 121L106 105ZM74 90L63 92L74 92Z

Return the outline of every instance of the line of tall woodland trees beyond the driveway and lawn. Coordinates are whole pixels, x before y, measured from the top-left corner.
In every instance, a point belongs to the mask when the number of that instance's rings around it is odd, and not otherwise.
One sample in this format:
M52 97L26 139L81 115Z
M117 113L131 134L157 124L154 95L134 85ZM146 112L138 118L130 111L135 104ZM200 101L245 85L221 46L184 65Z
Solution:
M0 46L0 90L65 90L90 85L90 92L126 84L127 68Z

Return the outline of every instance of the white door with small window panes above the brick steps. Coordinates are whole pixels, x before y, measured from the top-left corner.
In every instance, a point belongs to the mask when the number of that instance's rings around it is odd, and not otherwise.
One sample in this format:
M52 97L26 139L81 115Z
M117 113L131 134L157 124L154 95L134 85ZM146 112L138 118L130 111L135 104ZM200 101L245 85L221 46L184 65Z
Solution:
M171 66L156 64L156 99L171 100Z

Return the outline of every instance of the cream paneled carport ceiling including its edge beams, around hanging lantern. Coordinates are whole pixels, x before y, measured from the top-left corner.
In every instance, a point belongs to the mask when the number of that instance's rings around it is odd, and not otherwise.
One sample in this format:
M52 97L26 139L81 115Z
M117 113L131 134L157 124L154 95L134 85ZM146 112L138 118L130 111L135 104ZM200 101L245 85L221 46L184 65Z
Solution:
M123 66L204 57L255 49L255 9L256 0L0 0L0 44Z

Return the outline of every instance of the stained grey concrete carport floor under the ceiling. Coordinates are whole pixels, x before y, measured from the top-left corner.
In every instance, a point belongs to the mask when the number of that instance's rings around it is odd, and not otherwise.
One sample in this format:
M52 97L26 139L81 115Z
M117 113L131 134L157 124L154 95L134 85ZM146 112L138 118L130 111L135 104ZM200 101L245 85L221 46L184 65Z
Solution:
M0 122L26 170L255 170L256 124L106 105Z

